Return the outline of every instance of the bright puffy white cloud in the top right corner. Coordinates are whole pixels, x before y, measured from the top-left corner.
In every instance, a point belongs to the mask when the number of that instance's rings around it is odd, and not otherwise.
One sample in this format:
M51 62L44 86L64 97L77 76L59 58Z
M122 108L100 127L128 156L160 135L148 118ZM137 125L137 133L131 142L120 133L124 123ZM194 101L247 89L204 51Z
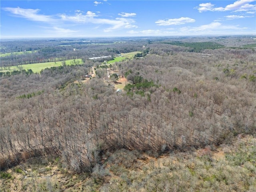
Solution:
M256 11L255 4L249 4L250 2L254 2L256 0L238 0L233 4L229 4L226 7L214 7L211 3L201 3L199 4L198 9L199 12L206 11L232 11L232 12L253 12Z

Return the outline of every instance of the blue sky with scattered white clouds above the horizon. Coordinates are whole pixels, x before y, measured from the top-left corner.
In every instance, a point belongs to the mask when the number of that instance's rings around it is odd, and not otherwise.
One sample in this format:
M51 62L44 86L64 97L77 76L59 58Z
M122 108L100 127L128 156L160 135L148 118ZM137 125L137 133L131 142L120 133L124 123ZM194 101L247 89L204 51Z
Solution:
M256 0L1 0L1 38L256 34Z

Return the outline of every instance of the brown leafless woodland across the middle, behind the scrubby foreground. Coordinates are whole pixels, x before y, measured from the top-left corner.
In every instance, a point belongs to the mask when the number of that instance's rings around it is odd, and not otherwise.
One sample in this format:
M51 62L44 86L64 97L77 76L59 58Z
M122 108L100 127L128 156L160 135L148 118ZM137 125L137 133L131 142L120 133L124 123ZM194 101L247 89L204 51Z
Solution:
M114 65L131 80L152 84L121 94L105 82L102 69L101 77L74 83L90 61L1 77L1 169L56 154L71 170L84 172L107 150L166 152L255 134L255 50L228 47L227 41L201 52L147 42L147 56Z

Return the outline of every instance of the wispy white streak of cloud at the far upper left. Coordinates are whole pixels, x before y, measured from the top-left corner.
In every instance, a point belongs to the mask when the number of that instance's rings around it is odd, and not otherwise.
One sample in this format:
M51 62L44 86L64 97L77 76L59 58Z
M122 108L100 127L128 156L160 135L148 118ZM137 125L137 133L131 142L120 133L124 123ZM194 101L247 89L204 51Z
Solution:
M52 16L38 14L40 9L23 9L19 7L5 7L2 9L14 14L14 16L26 18L31 21L52 22L54 20Z

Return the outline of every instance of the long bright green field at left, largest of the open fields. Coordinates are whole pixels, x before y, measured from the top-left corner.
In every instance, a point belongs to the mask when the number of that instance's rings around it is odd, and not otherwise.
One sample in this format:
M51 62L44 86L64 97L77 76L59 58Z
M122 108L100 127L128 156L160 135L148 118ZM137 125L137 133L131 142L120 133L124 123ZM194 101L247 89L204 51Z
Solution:
M79 62L79 64L82 63L82 59L76 59L76 63ZM66 65L74 64L74 59L66 60ZM62 61L57 62L46 62L46 63L34 63L34 64L26 64L22 65L22 69L28 70L31 69L34 73L40 72L42 69L51 68L51 67L58 67L62 65ZM20 67L20 66L19 66ZM18 66L12 66L10 67L10 71L14 70L20 70ZM0 70L2 72L6 72L8 70Z

